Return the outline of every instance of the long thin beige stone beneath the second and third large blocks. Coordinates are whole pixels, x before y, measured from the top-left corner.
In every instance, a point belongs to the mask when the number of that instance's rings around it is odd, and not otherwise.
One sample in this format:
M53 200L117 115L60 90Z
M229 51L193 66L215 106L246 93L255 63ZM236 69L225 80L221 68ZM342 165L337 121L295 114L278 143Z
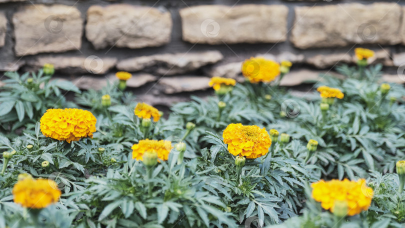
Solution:
M161 75L173 75L196 70L201 66L215 63L223 58L217 50L175 54L155 54L121 60L116 67L119 70L144 70Z

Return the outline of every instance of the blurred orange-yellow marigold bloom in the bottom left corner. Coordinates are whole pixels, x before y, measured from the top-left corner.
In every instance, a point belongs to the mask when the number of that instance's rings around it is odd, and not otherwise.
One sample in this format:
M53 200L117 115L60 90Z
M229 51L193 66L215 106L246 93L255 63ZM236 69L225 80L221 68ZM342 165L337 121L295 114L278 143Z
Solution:
M23 207L39 209L57 202L61 192L55 181L51 179L27 177L14 184L12 194L15 203L21 204Z

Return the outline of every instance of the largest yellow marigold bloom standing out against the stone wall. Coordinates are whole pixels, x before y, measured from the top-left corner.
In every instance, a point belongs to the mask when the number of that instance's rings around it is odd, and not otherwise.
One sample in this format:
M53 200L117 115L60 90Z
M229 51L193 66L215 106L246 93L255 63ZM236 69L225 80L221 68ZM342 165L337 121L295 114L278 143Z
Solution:
M244 60L241 70L251 83L270 82L280 74L280 65L263 57L251 57Z

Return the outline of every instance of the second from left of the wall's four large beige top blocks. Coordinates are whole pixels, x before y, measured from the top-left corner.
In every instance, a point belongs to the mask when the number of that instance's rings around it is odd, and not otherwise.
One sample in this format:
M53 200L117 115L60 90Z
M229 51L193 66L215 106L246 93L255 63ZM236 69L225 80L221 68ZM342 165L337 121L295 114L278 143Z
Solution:
M141 48L170 41L171 15L157 8L112 4L87 10L86 37L96 49Z

